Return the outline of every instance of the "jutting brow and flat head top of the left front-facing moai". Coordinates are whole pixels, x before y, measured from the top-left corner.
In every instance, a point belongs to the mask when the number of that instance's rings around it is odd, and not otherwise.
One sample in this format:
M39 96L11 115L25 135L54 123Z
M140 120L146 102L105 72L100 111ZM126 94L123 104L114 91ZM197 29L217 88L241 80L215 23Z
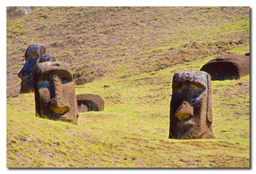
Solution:
M72 71L68 64L63 62L42 62L36 64L34 75L38 76L36 81L45 80L52 73L59 73L63 76L63 80L72 81Z

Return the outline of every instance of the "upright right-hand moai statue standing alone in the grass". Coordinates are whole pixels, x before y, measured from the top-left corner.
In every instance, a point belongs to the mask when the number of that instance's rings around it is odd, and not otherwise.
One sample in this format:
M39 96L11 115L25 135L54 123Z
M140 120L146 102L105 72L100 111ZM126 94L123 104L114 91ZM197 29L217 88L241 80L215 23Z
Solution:
M211 76L208 73L175 73L170 103L169 138L215 138L212 132L211 93Z

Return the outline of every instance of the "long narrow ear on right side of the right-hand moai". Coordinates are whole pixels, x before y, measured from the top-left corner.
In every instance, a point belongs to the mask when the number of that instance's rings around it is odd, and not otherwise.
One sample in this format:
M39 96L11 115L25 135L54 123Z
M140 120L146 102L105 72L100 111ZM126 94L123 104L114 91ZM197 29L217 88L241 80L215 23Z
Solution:
M212 125L212 85L211 76L207 74L207 112L206 112L206 123L208 127Z

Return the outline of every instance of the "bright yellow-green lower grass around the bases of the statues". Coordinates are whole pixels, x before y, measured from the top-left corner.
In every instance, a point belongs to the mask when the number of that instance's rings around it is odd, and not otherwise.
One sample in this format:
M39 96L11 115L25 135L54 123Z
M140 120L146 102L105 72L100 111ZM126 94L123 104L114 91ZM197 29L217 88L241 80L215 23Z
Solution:
M172 76L210 59L76 87L105 101L102 112L80 113L77 126L35 117L33 93L8 98L7 167L249 168L249 75L212 81L216 139L168 138Z

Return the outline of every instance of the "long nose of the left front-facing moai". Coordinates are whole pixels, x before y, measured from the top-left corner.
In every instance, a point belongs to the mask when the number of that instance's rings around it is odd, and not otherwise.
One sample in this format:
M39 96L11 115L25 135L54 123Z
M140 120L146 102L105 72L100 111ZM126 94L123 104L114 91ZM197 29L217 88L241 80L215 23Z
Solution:
M52 91L49 108L52 112L61 114L70 110L67 98L63 96L61 80L57 75L50 76L50 88Z

